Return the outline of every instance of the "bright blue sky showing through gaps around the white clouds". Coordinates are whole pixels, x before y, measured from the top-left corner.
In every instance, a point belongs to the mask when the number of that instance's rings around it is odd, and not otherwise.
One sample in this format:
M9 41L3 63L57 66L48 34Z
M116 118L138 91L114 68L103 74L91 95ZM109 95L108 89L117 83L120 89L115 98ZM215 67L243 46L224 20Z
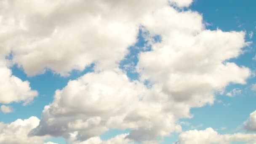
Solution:
M205 29L221 29L224 32L246 32L245 41L251 42L251 44L245 46L243 53L238 57L227 59L226 61L234 62L240 67L248 67L252 72L252 75L246 79L246 84L229 83L224 87L223 93L216 93L214 104L205 104L203 107L191 107L190 114L193 115L193 117L180 118L177 122L181 123L182 131L193 129L200 131L211 127L223 135L238 132L253 133L253 131L245 131L243 129L243 123L248 120L250 113L256 110L256 90L252 89L252 85L256 83L255 76L253 76L253 73L256 71L256 61L253 60L253 57L256 55L256 37L253 35L253 33L256 33L256 19L254 16L256 13L255 5L255 0L194 0L188 8L179 9L179 11L197 11L202 14L203 22L206 25ZM154 35L153 39L155 39L154 43L161 43L161 35ZM140 76L143 74L136 72L135 68L139 61L138 55L141 52L152 51L141 29L138 35L136 35L136 43L128 46L127 49L129 52L126 54L125 58L118 62L118 67L123 69L123 72L125 72L131 81L140 80ZM43 58L39 56L36 59ZM26 67L25 65L22 66L22 64L26 63L19 63L19 61L14 61L13 63L14 65L11 66L13 75L23 81L29 81L31 89L36 90L39 94L31 103L25 106L22 105L22 101L4 104L12 107L13 112L0 112L0 121L3 123L11 123L17 119L24 120L31 116L41 119L44 107L53 102L57 89L61 90L66 87L70 80L77 80L77 78L88 72L97 71L95 70L95 63L91 63L86 65L82 70L72 69L69 76L62 76L56 70L52 70L53 68L51 67L48 67L43 74L28 76L26 70L24 71L22 68ZM125 68L126 66L129 67ZM144 83L146 84L147 81L144 81ZM239 92L232 94L233 96L227 96L227 93L234 89ZM118 134L129 132L130 128L128 127L123 130L110 128L108 131L101 133L100 137L102 140L108 140ZM164 140L161 144L171 144L177 139L179 139L179 133L172 132L171 136L164 136ZM44 141L66 144L65 139L61 136L48 138Z

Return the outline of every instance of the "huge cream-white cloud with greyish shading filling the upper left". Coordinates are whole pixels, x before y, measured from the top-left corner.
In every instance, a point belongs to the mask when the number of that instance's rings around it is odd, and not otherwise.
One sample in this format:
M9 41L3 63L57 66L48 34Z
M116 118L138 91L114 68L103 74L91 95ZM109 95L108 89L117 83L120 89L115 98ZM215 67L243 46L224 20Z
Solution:
M0 2L0 47L28 75L116 67L136 42L140 18L168 0ZM131 11L131 9L133 11ZM19 11L19 13L17 13Z

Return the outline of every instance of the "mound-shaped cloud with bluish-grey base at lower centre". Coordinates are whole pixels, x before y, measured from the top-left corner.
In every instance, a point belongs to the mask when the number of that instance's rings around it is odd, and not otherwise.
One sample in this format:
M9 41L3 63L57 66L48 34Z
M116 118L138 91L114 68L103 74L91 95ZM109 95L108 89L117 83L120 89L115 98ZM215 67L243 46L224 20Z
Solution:
M127 138L151 141L180 131L171 111L179 113L185 108L152 93L118 70L85 74L56 91L53 103L45 107L40 125L30 135L71 139L70 133L77 133L75 140L85 141L109 128L130 128Z

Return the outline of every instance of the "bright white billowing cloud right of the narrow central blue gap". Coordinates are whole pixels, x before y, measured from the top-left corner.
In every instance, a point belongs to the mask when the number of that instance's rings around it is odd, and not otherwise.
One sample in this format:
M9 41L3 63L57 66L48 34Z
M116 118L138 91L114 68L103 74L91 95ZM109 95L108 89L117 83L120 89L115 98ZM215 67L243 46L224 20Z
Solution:
M200 107L213 104L214 93L229 83L245 84L250 70L227 62L242 53L244 32L211 31L193 11L162 8L146 16L149 37L160 35L152 51L142 52L137 65L141 80L159 85L173 101Z

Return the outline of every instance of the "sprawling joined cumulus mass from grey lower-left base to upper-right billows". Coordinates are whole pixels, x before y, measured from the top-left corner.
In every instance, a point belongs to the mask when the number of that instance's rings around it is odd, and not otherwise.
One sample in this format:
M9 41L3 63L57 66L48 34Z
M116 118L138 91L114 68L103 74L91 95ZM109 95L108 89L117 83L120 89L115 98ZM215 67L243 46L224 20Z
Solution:
M123 9L130 6L118 4ZM151 43L151 51L139 54L136 67L140 80L130 81L119 69L105 69L70 81L56 91L54 101L45 107L40 125L31 135L71 139L70 133L77 133L75 139L85 141L110 128L129 128L127 139L155 141L181 131L176 122L191 117L191 107L213 104L214 93L229 83L245 84L250 70L226 62L239 56L248 45L244 32L207 30L197 12L168 5L151 8L136 15L137 24L148 32L146 38L160 35L161 40ZM145 87L144 80L152 86Z

